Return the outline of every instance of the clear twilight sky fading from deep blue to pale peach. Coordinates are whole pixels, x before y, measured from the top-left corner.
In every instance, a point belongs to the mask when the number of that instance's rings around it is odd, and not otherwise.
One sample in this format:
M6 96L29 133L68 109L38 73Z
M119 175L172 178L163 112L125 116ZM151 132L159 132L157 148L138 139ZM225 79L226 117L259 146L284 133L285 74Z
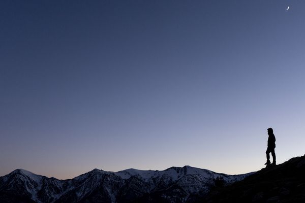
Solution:
M290 7L287 11L286 8ZM305 1L1 1L0 176L304 155Z

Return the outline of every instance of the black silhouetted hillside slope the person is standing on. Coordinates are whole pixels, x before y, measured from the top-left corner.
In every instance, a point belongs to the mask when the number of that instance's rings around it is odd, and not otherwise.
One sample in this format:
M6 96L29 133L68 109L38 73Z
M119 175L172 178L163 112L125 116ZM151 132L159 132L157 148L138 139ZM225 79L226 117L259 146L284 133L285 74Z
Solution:
M198 202L305 202L305 156L267 165L240 182L212 189Z

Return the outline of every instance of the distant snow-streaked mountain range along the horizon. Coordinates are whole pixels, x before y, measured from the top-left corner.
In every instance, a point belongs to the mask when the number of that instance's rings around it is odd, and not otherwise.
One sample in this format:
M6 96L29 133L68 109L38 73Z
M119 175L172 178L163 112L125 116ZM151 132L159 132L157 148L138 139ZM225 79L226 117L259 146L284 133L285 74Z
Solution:
M58 180L18 169L0 177L0 202L138 202L149 196L163 202L190 202L204 195L216 179L231 184L249 176L218 174L191 166L164 171L95 169L69 180ZM142 200L141 200L142 199ZM160 201L160 200L158 200Z

